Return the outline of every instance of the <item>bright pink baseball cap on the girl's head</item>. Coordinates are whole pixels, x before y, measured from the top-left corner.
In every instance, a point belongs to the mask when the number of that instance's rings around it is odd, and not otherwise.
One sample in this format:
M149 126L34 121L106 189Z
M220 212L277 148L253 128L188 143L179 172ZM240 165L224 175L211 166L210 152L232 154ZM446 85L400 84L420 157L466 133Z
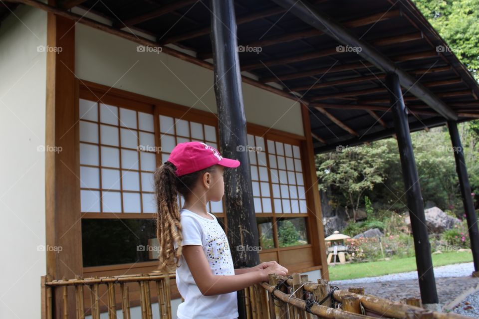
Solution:
M239 160L224 158L217 149L203 142L180 143L171 151L169 162L176 166L176 175L186 175L194 171L219 164L225 167L240 166Z

